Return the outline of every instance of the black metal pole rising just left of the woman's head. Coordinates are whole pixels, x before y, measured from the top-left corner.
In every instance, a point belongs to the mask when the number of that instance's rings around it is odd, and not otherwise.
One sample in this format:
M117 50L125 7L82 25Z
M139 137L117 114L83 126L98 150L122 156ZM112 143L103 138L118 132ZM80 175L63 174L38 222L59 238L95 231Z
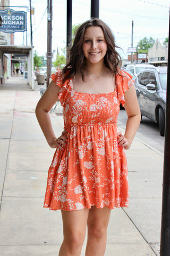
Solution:
M66 40L67 40L66 46L67 46L67 49L69 49L72 45L72 0L67 0L67 39Z

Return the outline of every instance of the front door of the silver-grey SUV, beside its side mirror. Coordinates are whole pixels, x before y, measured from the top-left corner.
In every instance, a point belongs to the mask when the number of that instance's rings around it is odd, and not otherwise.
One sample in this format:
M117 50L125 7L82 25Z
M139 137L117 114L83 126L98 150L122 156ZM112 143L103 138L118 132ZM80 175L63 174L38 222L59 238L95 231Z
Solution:
M146 90L146 114L148 117L155 118L155 98L157 98L157 80L154 72L150 72L147 83L155 85L155 90Z

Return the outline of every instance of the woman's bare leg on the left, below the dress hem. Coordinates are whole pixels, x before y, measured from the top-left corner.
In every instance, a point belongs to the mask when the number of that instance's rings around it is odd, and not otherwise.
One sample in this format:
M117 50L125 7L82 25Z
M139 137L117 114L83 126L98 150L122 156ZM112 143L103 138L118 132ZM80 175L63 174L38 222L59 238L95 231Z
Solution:
M88 209L62 211L64 239L59 256L80 256L88 219Z

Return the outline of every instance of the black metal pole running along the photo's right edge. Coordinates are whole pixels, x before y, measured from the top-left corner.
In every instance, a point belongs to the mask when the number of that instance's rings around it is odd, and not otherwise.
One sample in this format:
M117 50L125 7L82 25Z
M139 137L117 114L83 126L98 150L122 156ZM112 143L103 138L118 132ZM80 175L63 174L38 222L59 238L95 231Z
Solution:
M170 17L169 17L170 22ZM170 36L170 23L169 23ZM168 68L166 92L166 123L163 175L162 227L160 237L160 256L170 255L170 43L168 41Z

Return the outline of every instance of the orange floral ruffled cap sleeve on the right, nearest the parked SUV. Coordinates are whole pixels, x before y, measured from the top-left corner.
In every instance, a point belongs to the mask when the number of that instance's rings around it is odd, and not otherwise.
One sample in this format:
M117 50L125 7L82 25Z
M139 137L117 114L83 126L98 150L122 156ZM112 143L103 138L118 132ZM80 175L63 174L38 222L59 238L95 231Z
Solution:
M122 76L116 74L117 98L122 104L122 106L124 106L125 91L127 91L134 84L134 81L132 80L132 76L126 73L126 71L120 70L119 73Z

